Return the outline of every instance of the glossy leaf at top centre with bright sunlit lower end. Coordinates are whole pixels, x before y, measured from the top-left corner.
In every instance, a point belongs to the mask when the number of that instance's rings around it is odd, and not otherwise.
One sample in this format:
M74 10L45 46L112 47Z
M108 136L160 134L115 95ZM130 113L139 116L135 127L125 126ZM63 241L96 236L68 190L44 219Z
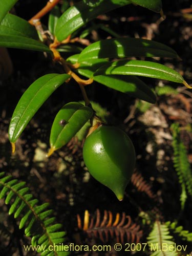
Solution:
M56 37L59 41L62 41L99 14L129 4L131 4L130 0L80 1L60 16L55 30Z

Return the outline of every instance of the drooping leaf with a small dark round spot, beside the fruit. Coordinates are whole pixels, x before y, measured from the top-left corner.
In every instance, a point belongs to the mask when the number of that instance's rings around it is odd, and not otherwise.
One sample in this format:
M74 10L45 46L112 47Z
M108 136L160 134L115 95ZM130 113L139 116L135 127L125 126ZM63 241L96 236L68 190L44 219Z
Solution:
M92 115L93 110L81 103L70 102L64 105L53 121L48 156L68 143Z

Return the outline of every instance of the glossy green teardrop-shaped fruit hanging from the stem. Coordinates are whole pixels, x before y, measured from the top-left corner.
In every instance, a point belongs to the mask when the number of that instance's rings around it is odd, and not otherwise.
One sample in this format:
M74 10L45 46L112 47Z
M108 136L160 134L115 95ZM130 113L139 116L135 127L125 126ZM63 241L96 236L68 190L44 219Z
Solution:
M84 142L83 159L90 174L122 200L135 167L130 138L116 127L100 126Z

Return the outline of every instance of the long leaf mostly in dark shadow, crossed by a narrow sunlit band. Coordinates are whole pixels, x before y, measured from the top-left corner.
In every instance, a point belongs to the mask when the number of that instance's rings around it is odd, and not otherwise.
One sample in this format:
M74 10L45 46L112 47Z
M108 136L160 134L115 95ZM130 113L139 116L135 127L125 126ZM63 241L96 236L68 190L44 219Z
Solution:
M97 58L170 57L177 53L160 42L140 38L113 38L94 42L79 55L78 62Z

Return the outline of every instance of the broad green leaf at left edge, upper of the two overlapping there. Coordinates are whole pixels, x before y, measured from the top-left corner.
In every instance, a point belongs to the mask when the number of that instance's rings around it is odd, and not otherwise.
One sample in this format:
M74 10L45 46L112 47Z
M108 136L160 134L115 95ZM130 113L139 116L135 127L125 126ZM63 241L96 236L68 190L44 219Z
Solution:
M25 19L8 13L0 25L0 35L24 36L38 39L34 26L30 25Z

